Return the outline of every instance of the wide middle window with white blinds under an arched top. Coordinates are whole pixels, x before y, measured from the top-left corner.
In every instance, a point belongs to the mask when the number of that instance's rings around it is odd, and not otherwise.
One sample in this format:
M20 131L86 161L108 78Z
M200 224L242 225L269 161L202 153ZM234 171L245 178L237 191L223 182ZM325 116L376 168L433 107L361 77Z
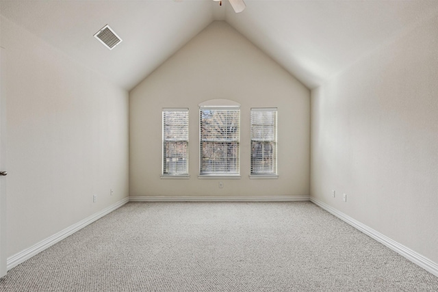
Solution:
M238 175L240 107L200 107L199 174Z

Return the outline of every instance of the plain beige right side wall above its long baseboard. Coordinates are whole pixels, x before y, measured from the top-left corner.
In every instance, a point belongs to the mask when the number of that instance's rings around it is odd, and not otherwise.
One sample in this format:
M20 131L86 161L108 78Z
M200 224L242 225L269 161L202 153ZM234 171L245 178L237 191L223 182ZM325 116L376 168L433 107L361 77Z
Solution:
M405 31L311 96L311 196L435 263L437 27Z

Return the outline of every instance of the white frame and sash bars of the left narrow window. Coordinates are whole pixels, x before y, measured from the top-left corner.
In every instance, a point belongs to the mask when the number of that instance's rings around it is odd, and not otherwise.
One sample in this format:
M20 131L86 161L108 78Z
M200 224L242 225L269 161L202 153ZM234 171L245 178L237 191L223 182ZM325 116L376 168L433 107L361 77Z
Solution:
M185 119L182 124L180 124L179 126L185 126L186 129L185 131L187 131L187 140L185 139L178 139L178 137L175 140L166 140L166 120L165 120L165 113L166 112L185 112L187 113L185 116ZM162 109L162 174L161 174L161 178L180 178L180 179L184 179L184 178L190 178L189 175L189 153L190 153L190 132L189 132L189 124L190 122L190 116L189 116L189 109L187 107L182 107L182 108L163 108ZM186 152L185 155L183 155L183 157L185 157L185 170L187 170L187 172L169 172L166 173L166 163L165 163L165 155L166 155L166 151L165 151L165 145L166 143L169 142L186 142L187 146L186 146Z

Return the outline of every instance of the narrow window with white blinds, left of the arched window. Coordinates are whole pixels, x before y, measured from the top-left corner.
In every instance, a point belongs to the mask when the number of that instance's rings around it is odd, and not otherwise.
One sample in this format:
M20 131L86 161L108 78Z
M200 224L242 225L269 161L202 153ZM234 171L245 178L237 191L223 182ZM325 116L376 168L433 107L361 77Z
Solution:
M163 176L188 175L189 109L163 109Z

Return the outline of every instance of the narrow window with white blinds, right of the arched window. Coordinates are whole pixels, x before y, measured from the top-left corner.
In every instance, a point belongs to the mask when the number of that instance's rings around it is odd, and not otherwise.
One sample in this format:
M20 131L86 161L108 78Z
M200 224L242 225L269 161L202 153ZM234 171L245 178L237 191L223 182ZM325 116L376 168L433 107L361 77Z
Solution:
M276 108L251 109L251 175L276 175Z

